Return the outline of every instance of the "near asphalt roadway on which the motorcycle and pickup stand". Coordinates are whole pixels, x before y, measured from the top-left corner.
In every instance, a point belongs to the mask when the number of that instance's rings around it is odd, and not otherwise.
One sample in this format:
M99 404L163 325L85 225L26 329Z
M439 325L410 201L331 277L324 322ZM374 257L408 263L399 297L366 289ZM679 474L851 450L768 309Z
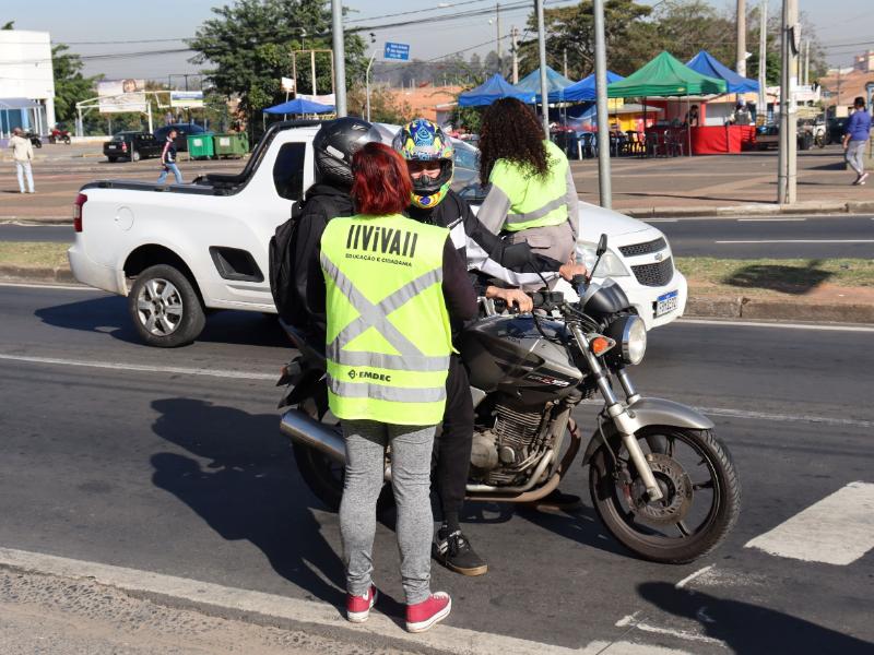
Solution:
M0 549L342 603L336 516L276 429L272 378L290 349L273 321L217 313L198 343L161 350L137 342L121 298L92 290L0 286ZM698 562L659 565L609 537L588 496L572 514L475 503L464 529L491 570L435 565L454 599L447 624L543 648L870 653L872 551L835 565L745 544L874 483L871 331L685 323L650 337L640 389L707 408L734 455L734 533ZM579 412L586 433L592 413ZM562 487L584 493L584 472ZM874 532L862 521L847 534ZM375 552L398 612L385 525Z

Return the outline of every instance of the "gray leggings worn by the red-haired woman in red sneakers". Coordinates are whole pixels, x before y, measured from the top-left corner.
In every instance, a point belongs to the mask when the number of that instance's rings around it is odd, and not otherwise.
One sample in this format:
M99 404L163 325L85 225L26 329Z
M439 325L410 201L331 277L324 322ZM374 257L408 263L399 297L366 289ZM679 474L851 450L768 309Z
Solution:
M344 420L346 481L340 503L340 533L346 565L346 591L362 596L370 588L376 501L382 488L386 444L391 442L391 485L398 505L398 548L408 604L430 594L430 456L435 426L397 426Z

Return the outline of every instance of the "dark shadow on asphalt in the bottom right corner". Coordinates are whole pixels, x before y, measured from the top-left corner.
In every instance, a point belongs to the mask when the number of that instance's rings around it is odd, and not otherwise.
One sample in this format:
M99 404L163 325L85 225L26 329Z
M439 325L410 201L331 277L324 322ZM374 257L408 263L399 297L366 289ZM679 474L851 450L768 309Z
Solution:
M659 609L697 621L705 634L725 642L733 653L874 652L871 642L749 603L677 590L665 582L643 583L638 592Z

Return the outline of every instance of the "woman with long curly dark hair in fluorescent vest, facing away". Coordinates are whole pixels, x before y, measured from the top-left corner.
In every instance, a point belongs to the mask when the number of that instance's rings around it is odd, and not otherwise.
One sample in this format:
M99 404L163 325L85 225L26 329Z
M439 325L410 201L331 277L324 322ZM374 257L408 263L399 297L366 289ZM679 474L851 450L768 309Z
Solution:
M559 262L574 253L577 189L562 150L515 98L493 103L480 130L480 179L492 188L476 217L494 234Z

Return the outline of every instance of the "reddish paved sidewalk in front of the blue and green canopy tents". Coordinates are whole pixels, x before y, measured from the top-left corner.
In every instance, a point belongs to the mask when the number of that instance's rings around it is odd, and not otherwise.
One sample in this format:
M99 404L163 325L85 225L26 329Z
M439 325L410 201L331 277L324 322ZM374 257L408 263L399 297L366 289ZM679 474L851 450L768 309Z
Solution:
M776 151L611 160L613 209L635 216L874 212L874 183L853 187L838 145L799 153L798 205L777 204ZM581 200L599 204L598 159L571 162Z

